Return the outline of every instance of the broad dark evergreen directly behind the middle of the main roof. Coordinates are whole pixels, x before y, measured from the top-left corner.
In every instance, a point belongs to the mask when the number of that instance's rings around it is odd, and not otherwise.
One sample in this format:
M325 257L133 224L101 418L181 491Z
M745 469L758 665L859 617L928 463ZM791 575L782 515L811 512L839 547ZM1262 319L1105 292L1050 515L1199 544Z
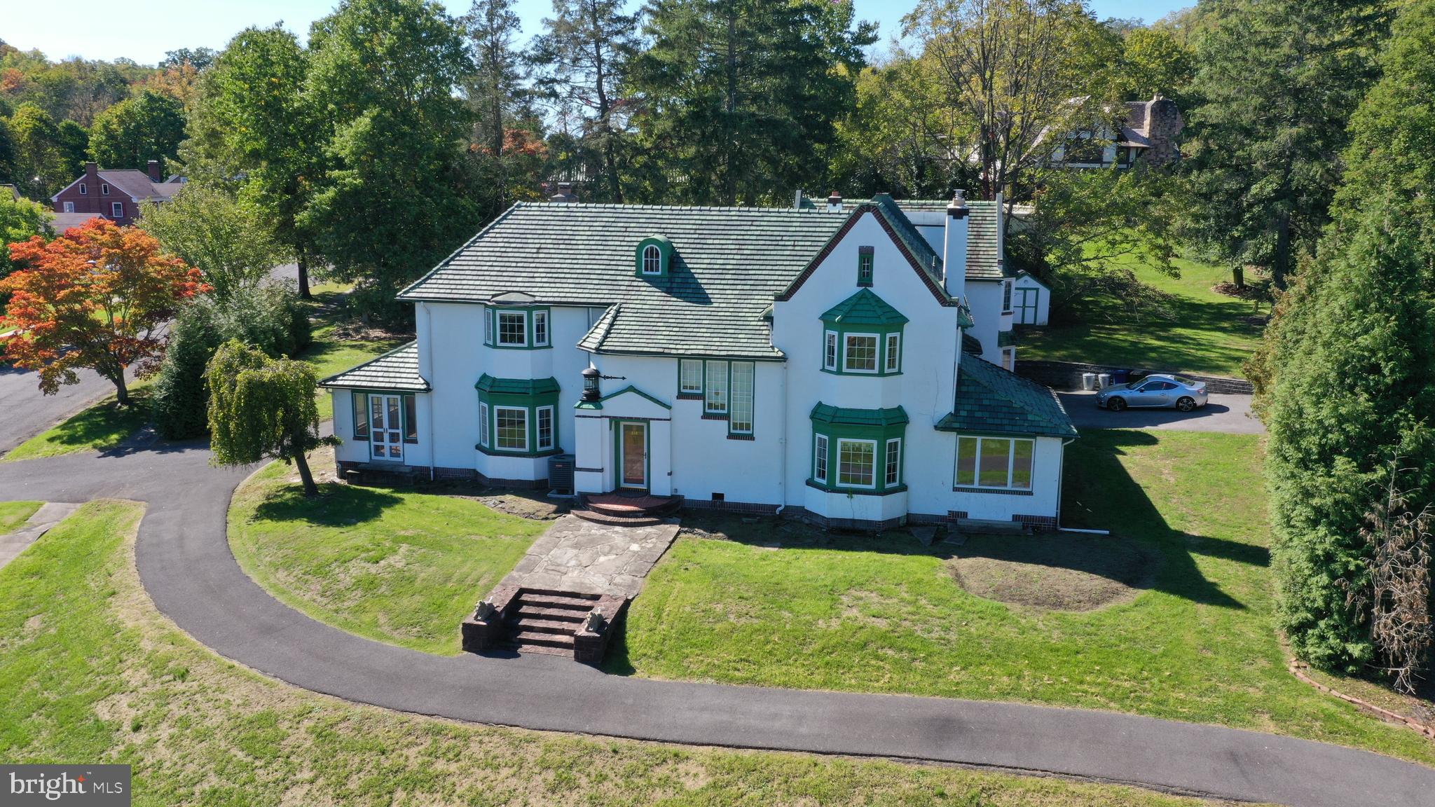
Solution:
M650 197L753 205L825 182L877 39L850 1L653 0L644 33L631 85Z

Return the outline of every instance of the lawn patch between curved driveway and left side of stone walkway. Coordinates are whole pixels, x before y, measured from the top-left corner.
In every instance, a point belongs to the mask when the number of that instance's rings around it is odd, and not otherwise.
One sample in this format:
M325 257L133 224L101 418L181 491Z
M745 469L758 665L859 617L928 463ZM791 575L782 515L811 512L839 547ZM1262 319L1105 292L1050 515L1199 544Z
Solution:
M403 490L329 484L306 500L294 474L276 462L234 494L244 572L320 622L430 653L459 652L464 616L548 526Z

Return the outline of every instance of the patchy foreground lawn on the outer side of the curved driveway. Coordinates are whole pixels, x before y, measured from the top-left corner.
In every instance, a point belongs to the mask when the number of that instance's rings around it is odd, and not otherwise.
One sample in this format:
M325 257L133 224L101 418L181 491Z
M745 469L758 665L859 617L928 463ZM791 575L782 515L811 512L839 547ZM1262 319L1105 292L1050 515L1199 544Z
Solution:
M133 765L138 807L207 804L1195 807L1128 787L465 725L263 678L159 616L142 508L90 503L0 570L0 758Z

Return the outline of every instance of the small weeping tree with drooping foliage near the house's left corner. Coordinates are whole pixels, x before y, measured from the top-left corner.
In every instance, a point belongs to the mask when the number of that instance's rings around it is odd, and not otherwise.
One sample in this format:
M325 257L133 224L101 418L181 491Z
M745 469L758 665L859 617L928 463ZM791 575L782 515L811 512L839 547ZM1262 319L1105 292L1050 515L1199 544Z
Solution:
M331 445L319 437L314 370L304 362L271 359L237 339L210 359L210 432L214 461L251 465L276 458L298 467L304 495L319 495L304 452Z

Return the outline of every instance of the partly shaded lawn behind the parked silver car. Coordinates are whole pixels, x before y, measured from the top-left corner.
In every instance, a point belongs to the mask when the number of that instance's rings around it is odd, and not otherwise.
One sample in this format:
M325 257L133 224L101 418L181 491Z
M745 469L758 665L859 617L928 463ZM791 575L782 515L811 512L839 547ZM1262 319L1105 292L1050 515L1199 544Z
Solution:
M1023 332L1019 359L1243 375L1241 363L1256 350L1261 333L1260 325L1241 319L1253 316L1251 303L1211 291L1211 286L1230 280L1227 269L1192 260L1175 264L1181 277L1131 266L1142 281L1175 294L1174 322L1128 325L1115 304L1092 302L1078 312L1076 325ZM1269 306L1263 304L1266 313Z

